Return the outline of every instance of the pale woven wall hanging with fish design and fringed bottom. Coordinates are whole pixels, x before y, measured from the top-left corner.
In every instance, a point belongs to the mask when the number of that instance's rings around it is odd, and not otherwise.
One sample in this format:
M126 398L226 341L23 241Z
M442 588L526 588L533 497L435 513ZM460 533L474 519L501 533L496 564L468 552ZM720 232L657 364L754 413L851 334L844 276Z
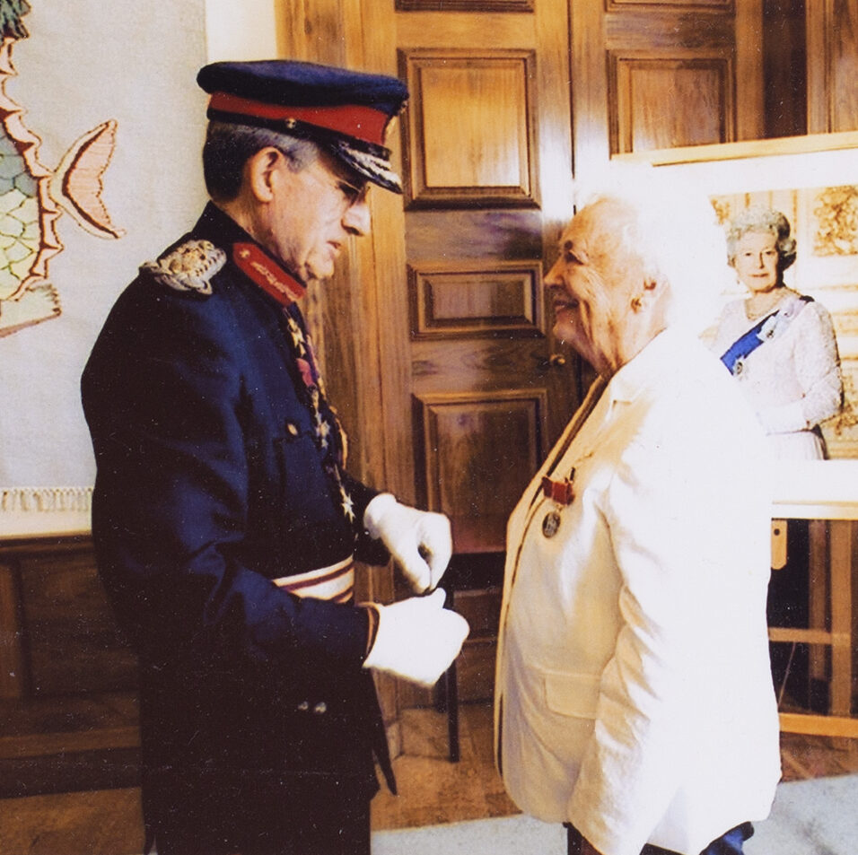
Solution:
M0 537L88 524L81 372L206 201L206 61L206 0L0 0Z

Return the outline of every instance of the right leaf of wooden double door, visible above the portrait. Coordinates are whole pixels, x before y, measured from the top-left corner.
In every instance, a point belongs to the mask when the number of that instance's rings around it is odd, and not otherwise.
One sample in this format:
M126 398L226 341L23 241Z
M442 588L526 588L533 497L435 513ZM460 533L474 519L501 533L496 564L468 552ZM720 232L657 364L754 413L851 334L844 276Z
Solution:
M761 135L762 0L571 8L578 173L615 153Z

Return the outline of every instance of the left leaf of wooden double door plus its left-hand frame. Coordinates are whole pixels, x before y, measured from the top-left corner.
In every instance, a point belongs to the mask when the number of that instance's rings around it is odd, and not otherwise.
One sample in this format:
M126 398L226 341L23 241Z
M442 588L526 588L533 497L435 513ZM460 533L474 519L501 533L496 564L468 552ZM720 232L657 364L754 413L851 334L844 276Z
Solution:
M506 519L581 397L542 275L572 213L566 0L284 0L285 56L398 74L389 143L406 193L372 194L370 240L308 314L351 468L452 519L472 624L465 697L487 696ZM341 330L347 328L348 335ZM371 593L393 595L371 575ZM425 694L399 687L400 702Z

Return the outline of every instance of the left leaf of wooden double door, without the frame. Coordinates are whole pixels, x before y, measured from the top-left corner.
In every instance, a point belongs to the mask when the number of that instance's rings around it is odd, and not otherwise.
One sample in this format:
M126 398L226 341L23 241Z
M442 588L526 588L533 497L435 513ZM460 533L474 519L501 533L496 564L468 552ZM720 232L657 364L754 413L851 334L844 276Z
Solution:
M492 692L506 520L581 394L542 287L572 213L569 28L565 0L441 5L396 16L410 92L400 406L416 502L451 518L468 699Z

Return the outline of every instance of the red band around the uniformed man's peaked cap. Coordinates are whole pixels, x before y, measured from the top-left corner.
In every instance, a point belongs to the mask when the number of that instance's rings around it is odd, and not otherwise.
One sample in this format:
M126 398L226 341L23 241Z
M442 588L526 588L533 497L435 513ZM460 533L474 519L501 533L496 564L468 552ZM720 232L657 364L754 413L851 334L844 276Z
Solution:
M343 104L339 107L282 107L279 104L266 104L263 101L230 95L228 92L215 92L209 102L209 108L224 113L237 113L240 116L271 118L285 122L293 119L376 145L384 143L384 128L390 119L382 110L356 104Z

